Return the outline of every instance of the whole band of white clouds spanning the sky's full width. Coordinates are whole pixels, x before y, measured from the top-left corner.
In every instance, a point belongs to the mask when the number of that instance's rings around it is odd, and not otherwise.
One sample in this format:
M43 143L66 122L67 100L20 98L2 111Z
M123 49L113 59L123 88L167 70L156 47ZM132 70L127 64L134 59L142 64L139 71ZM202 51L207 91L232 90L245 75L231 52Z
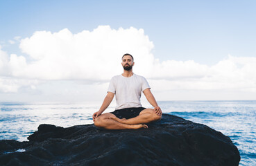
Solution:
M35 89L38 80L108 82L113 75L122 73L124 53L134 55L134 72L148 78L157 91L256 91L255 57L229 55L213 66L193 60L160 61L153 56L153 42L143 29L99 26L76 34L68 29L56 33L37 31L31 37L15 39L20 41L19 48L26 57L8 55L0 47L0 91L4 92L14 92L29 84ZM10 77L16 81L11 82Z

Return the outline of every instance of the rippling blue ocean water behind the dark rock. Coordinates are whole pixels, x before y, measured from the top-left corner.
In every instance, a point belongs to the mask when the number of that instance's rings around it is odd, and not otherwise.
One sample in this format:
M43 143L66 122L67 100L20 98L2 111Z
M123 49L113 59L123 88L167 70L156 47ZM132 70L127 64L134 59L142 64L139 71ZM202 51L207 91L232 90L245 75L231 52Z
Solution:
M256 165L256 101L162 101L158 104L163 113L221 131L239 149L239 165ZM39 124L61 127L92 124L92 113L99 107L70 103L0 103L0 140L25 141L37 131ZM112 110L114 107L105 112Z

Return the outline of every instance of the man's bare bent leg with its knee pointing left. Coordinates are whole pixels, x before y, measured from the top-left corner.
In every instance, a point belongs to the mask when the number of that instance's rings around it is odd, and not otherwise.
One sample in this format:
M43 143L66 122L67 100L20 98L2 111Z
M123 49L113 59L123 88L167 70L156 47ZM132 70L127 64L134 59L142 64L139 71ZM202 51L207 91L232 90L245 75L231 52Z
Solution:
M94 125L96 127L103 127L105 129L139 129L139 128L148 128L146 124L124 124L121 122L117 122L114 120L117 118L112 113L103 113L101 116L98 116L95 121Z

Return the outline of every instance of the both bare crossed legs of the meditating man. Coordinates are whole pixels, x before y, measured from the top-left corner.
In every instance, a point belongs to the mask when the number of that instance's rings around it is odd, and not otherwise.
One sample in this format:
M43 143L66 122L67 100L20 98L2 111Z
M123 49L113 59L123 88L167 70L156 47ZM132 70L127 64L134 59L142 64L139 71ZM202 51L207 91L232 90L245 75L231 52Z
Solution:
M94 120L94 125L105 129L139 129L148 128L145 123L160 119L161 116L157 116L153 109L144 109L139 116L130 119L119 119L112 113L103 113Z

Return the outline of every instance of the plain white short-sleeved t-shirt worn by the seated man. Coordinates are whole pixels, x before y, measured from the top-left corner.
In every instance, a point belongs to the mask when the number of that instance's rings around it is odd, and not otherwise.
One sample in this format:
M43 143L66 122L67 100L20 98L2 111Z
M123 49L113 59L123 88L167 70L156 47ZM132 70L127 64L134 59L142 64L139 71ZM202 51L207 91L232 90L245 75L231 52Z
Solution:
M108 92L112 92L116 95L116 109L125 109L142 107L140 97L142 92L148 88L150 89L150 86L146 78L133 73L131 77L123 77L123 75L112 77Z

